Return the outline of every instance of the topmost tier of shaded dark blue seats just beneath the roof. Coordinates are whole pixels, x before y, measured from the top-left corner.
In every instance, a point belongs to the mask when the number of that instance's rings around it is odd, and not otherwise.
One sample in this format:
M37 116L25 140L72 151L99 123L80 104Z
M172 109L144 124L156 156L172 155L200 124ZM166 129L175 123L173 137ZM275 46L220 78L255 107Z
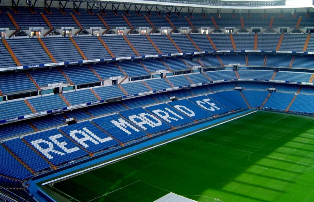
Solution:
M284 17L280 17L281 13L267 13L266 17L264 18L263 13L251 13L250 18L248 17L248 13L242 14L235 14L233 16L231 13L220 13L220 17L217 16L217 13L192 13L192 17L189 13L180 13L176 14L175 12L171 13L157 13L157 12L145 12L139 11L138 14L134 10L130 10L127 13L123 10L104 10L103 12L105 15L102 14L98 9L93 9L90 13L87 11L86 8L80 8L74 10L73 8L64 8L62 9L63 12L60 11L59 8L50 8L50 12L47 12L44 8L34 7L34 14L30 12L27 7L18 7L15 10L18 13L15 13L13 10L7 7L1 7L1 12L3 14L3 25L1 27L4 28L14 28L13 24L10 23L10 20L7 18L6 12L12 13L15 20L19 24L20 27L29 28L29 27L47 27L48 25L45 23L43 18L41 18L40 13L44 13L48 20L51 22L54 28L61 28L61 27L75 27L78 28L78 25L73 20L71 13L78 19L80 24L84 28L90 27L104 27L104 24L98 18L98 14L106 21L106 23L111 28L116 27L129 27L126 23L124 18L125 16L127 20L132 24L133 27L151 27L150 24L146 21L143 17L146 15L149 20L154 24L156 28L160 27L170 27L170 24L166 20L165 16L170 19L172 24L176 28L181 27L189 27L191 25L186 20L186 17L192 22L194 27L196 28L206 28L214 27L214 23L211 20L211 17L214 17L214 20L219 28L225 27L235 27L235 28L242 28L241 26L241 19L243 18L244 28L252 28L252 27L262 27L262 28L269 28L271 18L273 17L273 25L272 28L278 27L290 27L295 28L298 22L299 17L303 17L300 21L299 28L305 27L312 27L314 26L313 23L313 13L310 14L309 18L305 17L305 13L297 13L295 17L291 15L291 13L284 13ZM92 15L91 15L92 14ZM180 15L180 16L178 16ZM27 18L25 18L27 16ZM31 20L29 20L31 19Z

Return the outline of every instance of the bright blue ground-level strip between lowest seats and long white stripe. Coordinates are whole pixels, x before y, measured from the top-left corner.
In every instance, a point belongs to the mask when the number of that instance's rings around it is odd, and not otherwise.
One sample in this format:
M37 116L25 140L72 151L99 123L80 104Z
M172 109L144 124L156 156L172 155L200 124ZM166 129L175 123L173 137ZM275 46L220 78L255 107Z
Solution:
M103 156L101 158L90 160L89 162L86 162L86 163L74 166L72 168L68 168L68 169L62 170L60 172L57 172L57 173L45 176L43 178L36 179L34 181L30 180L29 183L28 183L29 184L30 194L34 194L34 198L37 199L37 200L39 199L40 202L46 202L47 198L43 198L42 195L46 195L47 197L50 197L51 199L52 199L52 197L49 196L46 192L44 192L37 185L37 183L41 183L41 182L47 181L48 179L51 179L51 178L58 178L61 175L65 175L65 174L68 174L68 173L71 173L71 172L74 172L74 171L78 171L78 170L84 169L86 167L95 165L95 164L103 163L104 161L108 161L110 159L113 159L113 158L125 155L127 153L132 153L132 152L134 152L136 150L140 150L142 148L146 148L146 147L155 145L155 144L160 143L160 142L165 142L165 141L167 141L169 139L181 136L182 134L189 133L189 132L194 132L194 131L197 131L197 130L199 130L201 128L205 128L205 127L208 127L210 125L213 125L215 123L225 121L226 119L230 119L230 118L233 118L233 117L241 116L241 115L243 115L243 114L245 114L247 112L250 112L250 111L255 111L255 110L254 109L250 109L250 110L244 110L244 111L241 111L241 112L238 112L238 113L232 113L232 114L230 114L228 116L217 118L217 119L214 119L212 121L207 121L207 122L195 125L195 126L191 126L191 127L188 127L188 128L182 129L182 130L175 131L175 132L170 132L170 133L167 133L167 134L162 135L160 137L154 138L152 140L148 140L146 142L139 143L139 144L134 145L132 147L123 149L123 150L115 152L115 153L111 153L111 154ZM39 194L39 191L41 191L44 194ZM51 200L51 201L54 201L54 200Z

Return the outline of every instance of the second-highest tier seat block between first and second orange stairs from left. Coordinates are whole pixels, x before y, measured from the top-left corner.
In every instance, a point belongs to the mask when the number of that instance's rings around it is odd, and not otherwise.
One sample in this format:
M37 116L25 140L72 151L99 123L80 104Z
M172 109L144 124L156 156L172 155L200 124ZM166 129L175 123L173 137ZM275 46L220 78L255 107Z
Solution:
M52 63L37 39L8 39L7 42L21 65Z

